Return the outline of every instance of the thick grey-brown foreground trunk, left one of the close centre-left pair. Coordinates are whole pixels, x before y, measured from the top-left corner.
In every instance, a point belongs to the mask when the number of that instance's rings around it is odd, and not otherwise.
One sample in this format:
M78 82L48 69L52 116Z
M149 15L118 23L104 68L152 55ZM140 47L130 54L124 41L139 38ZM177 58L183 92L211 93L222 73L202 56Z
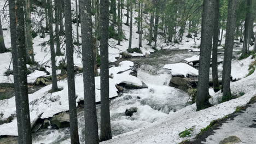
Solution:
M80 13L83 49L85 143L95 144L99 141L95 104L91 1L80 0L79 4L84 5L84 7L80 7Z

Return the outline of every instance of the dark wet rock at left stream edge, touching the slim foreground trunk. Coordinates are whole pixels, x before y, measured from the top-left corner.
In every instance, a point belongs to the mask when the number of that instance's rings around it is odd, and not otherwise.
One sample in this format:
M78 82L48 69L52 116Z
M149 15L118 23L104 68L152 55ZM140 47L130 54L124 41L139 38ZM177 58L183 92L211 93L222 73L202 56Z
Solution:
M57 128L69 127L69 114L66 112L62 112L58 115L53 116L53 118L51 119L51 125L54 125Z

